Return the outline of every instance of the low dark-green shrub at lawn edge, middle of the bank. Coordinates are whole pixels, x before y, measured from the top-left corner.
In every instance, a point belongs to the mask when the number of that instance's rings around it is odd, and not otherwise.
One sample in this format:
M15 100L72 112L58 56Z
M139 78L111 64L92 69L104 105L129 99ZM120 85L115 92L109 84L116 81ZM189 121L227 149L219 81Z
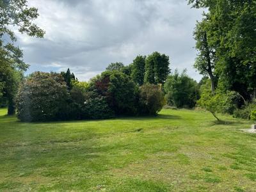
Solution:
M84 102L83 118L105 119L113 116L114 112L109 108L105 97L94 97Z

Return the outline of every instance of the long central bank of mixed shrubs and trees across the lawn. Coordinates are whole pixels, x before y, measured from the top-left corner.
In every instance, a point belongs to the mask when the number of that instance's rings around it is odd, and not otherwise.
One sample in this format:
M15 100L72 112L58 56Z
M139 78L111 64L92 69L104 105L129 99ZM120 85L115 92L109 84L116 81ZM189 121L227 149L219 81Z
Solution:
M198 84L186 71L170 74L169 65L168 56L153 52L127 66L111 63L88 82L79 82L69 69L60 74L35 72L19 88L17 116L35 122L156 115L166 102L193 108Z

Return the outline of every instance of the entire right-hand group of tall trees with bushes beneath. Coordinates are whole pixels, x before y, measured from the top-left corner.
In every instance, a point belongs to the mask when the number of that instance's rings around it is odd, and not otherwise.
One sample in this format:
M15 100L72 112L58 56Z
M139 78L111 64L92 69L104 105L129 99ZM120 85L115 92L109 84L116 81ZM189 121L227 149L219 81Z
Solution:
M198 104L214 116L250 118L256 109L256 1L189 0L189 4L208 10L194 33L195 68L211 79Z

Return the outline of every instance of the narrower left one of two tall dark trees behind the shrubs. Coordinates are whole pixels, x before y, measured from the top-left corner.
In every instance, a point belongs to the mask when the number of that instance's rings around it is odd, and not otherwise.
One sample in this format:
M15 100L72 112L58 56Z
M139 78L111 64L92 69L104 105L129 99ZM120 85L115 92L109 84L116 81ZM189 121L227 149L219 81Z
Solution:
M132 63L132 80L141 86L145 76L145 60L146 56L136 56Z

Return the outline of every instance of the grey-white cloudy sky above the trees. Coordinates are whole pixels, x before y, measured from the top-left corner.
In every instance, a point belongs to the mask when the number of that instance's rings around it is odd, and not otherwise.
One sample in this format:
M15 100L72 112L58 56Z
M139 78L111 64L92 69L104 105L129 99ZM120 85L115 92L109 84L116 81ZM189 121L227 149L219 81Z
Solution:
M193 28L202 10L185 0L29 0L38 8L36 24L45 38L18 36L24 60L35 70L60 72L69 67L86 81L109 63L132 63L154 51L170 56L172 70L193 69Z

